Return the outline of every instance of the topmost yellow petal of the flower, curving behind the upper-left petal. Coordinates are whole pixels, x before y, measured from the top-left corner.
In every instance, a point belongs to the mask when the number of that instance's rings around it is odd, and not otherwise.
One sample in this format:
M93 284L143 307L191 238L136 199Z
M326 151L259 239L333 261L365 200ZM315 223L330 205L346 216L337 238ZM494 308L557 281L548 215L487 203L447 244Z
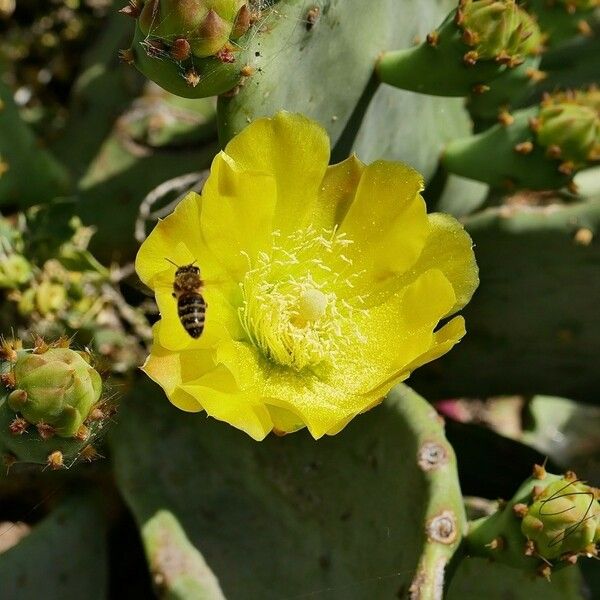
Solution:
M308 224L329 162L329 139L318 123L281 111L248 125L225 153L240 169L274 177L275 229L285 234Z

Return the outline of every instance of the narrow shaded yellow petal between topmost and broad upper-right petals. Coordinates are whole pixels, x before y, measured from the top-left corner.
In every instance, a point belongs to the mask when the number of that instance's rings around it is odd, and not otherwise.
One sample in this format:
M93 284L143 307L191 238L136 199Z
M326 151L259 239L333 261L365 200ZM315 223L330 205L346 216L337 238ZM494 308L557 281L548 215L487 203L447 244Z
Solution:
M344 220L364 170L364 163L355 154L327 168L311 219L317 229L331 230Z

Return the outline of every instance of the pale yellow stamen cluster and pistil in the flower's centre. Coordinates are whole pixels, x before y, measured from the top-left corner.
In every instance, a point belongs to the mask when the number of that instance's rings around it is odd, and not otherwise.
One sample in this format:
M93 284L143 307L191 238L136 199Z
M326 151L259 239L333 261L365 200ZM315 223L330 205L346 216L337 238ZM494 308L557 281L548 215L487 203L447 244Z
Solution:
M352 319L356 309L340 293L358 276L344 255L352 242L312 226L273 237L270 253L259 254L240 284L242 326L280 366L332 366L347 344L364 342Z

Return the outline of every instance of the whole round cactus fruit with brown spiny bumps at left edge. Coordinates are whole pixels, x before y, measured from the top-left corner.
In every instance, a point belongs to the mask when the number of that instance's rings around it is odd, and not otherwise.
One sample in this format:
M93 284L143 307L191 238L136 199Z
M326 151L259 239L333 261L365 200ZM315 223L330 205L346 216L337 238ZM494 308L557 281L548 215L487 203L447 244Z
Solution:
M91 442L111 416L102 399L102 379L90 356L61 338L0 345L0 449L5 462L46 464L59 469L98 457Z

